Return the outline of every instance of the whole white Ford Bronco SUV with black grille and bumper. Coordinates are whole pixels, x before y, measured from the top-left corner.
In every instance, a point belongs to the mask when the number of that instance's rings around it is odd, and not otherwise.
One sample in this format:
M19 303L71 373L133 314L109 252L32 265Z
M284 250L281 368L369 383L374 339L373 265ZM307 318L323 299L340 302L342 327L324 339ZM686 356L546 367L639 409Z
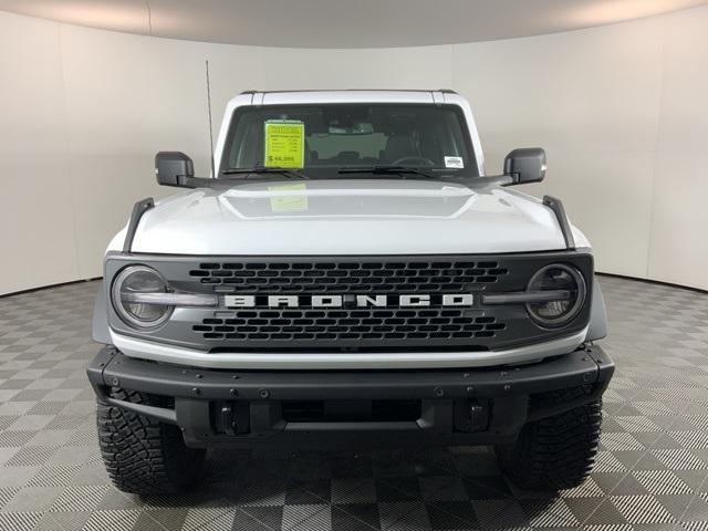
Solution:
M126 492L185 489L211 447L493 445L521 488L592 467L614 371L590 243L560 200L485 174L451 91L247 92L214 173L160 185L110 243L87 368Z

